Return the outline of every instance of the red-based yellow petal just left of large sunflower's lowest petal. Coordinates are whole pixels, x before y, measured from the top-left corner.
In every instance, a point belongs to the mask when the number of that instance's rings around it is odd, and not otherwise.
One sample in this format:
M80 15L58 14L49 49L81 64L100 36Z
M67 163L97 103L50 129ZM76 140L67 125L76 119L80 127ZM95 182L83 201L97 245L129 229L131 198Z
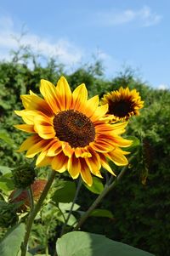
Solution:
M77 179L81 170L80 159L73 154L71 158L69 158L67 168L72 179Z

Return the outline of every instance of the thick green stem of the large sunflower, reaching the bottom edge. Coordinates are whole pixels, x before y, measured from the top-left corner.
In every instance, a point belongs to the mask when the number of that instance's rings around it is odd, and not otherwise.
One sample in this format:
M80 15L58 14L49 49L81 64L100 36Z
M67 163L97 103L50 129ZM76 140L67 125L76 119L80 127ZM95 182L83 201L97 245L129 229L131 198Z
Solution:
M53 181L54 181L54 177L55 177L56 172L52 171L49 178L48 178L48 182L44 187L44 190L42 191L42 195L40 196L37 205L35 206L35 208L31 211L28 220L27 220L27 224L26 224L26 234L24 237L24 242L22 242L21 244L21 254L20 256L26 256L26 250L27 250L27 244L28 244L28 240L30 237L30 233L31 233L31 226L34 222L34 219L37 216L37 213L39 212L40 208L42 207L42 202L44 201L45 197L48 194L49 188L52 185Z

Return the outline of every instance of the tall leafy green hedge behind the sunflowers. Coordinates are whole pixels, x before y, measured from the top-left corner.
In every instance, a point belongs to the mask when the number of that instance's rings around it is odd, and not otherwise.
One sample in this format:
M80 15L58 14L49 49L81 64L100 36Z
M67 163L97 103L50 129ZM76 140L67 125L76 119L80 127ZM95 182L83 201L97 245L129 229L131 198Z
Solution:
M14 52L11 61L1 61L0 166L14 168L25 159L15 150L26 134L13 127L20 123L20 118L14 114L14 110L22 109L20 94L27 94L30 89L39 94L41 78L56 83L61 75L65 75L72 89L85 82L89 96L99 94L101 97L107 91L128 86L137 88L144 100L140 116L133 117L127 127L127 135L136 136L142 146L138 150L134 149L136 159L129 166L122 182L99 205L100 209L110 210L112 214L109 214L109 218L90 217L83 225L83 230L104 234L117 242L125 242L156 255L170 255L170 92L150 88L146 82L135 77L131 69L127 68L107 80L101 63L96 60L94 65L80 66L77 71L68 74L57 60L51 59L42 65L29 48ZM119 168L116 168L116 172L119 172ZM82 205L81 210L87 210L95 197L83 187L77 202ZM55 212L52 205L48 206L43 218L50 219L50 214ZM74 221L74 216L72 218ZM53 245L58 236L60 227L58 225L55 228L58 220L52 221L49 245ZM41 229L38 228L40 225ZM41 233L43 225L46 230L45 224L37 221L32 230L32 236L36 236L42 244L47 242ZM3 236L3 228L0 231Z

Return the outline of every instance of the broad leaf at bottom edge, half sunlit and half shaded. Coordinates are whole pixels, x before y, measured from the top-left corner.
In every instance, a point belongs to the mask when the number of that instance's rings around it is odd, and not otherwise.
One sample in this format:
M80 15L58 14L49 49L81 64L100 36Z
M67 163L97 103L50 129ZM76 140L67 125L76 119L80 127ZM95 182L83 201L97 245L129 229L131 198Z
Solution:
M58 256L153 256L122 242L115 242L105 236L82 231L65 234L57 241Z

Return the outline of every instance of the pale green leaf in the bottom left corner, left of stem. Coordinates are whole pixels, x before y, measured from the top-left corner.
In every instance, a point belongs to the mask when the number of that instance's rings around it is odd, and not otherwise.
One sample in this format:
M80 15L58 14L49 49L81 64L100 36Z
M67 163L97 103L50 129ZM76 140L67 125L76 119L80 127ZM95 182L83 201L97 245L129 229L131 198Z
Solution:
M0 255L1 256L18 256L20 251L21 242L25 235L25 225L15 225L8 230L3 240L0 242Z

